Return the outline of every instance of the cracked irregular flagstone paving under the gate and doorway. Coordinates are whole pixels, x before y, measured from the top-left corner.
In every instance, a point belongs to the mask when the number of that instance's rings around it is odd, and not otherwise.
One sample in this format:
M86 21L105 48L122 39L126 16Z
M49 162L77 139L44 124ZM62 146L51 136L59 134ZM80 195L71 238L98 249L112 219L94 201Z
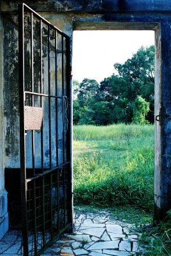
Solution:
M89 256L135 256L144 255L140 248L138 232L131 225L111 220L108 212L92 213L75 211L73 234L64 234L54 241L41 256L89 255ZM0 241L0 255L21 255L21 234L10 230Z

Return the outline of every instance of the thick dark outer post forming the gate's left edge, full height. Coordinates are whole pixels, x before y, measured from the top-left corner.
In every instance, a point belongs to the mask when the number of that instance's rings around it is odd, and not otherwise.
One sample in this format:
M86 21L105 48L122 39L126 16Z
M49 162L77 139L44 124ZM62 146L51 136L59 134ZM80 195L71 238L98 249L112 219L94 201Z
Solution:
M29 255L27 226L26 145L24 126L24 4L19 5L19 109L20 109L20 184L24 255Z

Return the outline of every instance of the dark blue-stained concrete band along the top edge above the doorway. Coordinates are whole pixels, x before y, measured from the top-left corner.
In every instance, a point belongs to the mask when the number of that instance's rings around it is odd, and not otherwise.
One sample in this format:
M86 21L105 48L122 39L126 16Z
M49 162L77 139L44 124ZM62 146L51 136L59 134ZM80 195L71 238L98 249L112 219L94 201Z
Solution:
M21 1L2 0L2 10L16 10ZM41 0L24 1L36 11L50 12L147 12L169 11L170 0Z

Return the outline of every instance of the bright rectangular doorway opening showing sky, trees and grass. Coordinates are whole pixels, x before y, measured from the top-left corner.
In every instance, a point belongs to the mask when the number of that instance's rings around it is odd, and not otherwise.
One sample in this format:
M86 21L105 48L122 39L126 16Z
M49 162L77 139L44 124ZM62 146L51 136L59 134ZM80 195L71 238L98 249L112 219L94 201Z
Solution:
M135 222L131 205L152 218L154 56L154 31L74 31L76 206L113 207Z

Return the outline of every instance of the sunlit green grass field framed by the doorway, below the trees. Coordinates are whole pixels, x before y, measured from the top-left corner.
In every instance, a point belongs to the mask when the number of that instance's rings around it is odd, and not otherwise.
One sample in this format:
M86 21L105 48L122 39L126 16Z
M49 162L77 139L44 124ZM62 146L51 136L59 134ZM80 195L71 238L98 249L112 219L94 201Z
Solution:
M74 129L74 202L151 211L152 125L78 125Z

